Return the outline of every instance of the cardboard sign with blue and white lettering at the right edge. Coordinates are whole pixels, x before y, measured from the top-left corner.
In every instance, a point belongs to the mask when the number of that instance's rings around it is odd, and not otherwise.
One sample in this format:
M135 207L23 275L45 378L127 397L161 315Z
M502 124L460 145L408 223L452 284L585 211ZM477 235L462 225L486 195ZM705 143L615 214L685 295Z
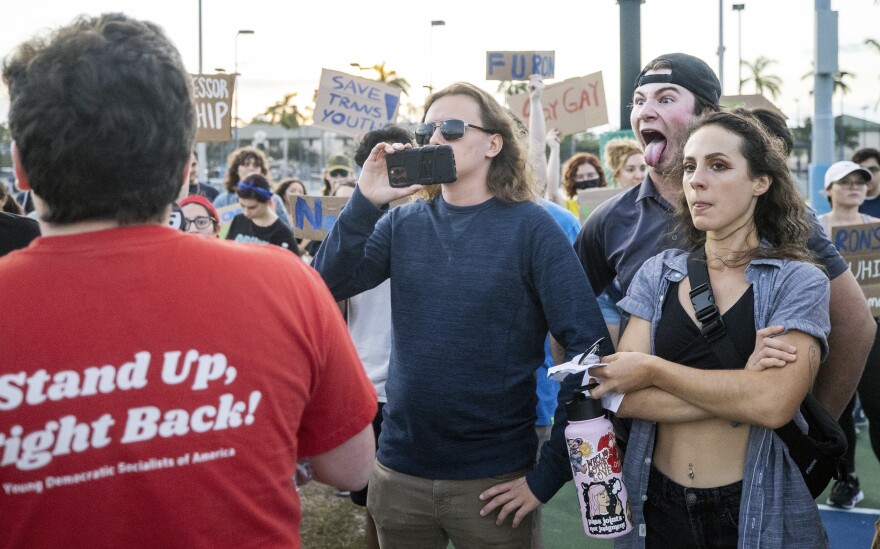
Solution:
M871 315L880 316L880 223L831 227L831 243L862 287Z

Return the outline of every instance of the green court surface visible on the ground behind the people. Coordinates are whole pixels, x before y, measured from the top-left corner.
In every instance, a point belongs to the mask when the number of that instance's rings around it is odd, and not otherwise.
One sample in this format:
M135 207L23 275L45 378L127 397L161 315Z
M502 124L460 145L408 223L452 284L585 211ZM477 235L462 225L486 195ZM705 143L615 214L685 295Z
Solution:
M880 463L871 451L871 443L868 440L867 427L862 428L856 444L856 473L859 476L865 499L856 506L856 509L880 509ZM828 499L828 489L819 498L818 503L825 503ZM880 511L878 511L880 513ZM542 528L545 549L598 549L614 547L613 540L595 540L584 534L580 519L580 508L574 483L567 483L556 496L544 506L542 511ZM869 524L863 526L865 535L870 539L873 528ZM835 543L830 536L832 548L843 547ZM838 540L840 541L840 540Z

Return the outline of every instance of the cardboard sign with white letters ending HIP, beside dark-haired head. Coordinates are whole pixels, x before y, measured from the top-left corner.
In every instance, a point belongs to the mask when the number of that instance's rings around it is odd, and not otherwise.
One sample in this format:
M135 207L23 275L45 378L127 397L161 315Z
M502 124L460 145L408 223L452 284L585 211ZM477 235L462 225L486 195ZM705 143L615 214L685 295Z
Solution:
M232 139L232 94L235 75L191 74L196 108L196 141Z

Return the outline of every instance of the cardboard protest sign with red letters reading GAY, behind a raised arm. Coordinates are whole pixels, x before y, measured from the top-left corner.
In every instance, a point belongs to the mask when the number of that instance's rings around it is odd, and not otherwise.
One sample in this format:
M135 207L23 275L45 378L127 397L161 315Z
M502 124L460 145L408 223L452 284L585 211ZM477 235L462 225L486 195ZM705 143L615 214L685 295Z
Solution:
M509 97L507 104L528 126L531 108L528 92ZM569 78L547 86L541 97L541 106L544 108L547 129L556 128L563 136L607 124L608 104L605 102L602 73Z

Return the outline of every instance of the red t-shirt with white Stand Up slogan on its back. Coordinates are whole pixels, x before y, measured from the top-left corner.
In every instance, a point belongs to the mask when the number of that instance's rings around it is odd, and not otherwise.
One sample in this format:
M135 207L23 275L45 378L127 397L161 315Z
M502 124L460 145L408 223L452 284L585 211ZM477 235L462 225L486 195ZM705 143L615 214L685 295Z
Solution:
M373 419L320 277L159 226L0 260L0 546L298 547L297 457Z

